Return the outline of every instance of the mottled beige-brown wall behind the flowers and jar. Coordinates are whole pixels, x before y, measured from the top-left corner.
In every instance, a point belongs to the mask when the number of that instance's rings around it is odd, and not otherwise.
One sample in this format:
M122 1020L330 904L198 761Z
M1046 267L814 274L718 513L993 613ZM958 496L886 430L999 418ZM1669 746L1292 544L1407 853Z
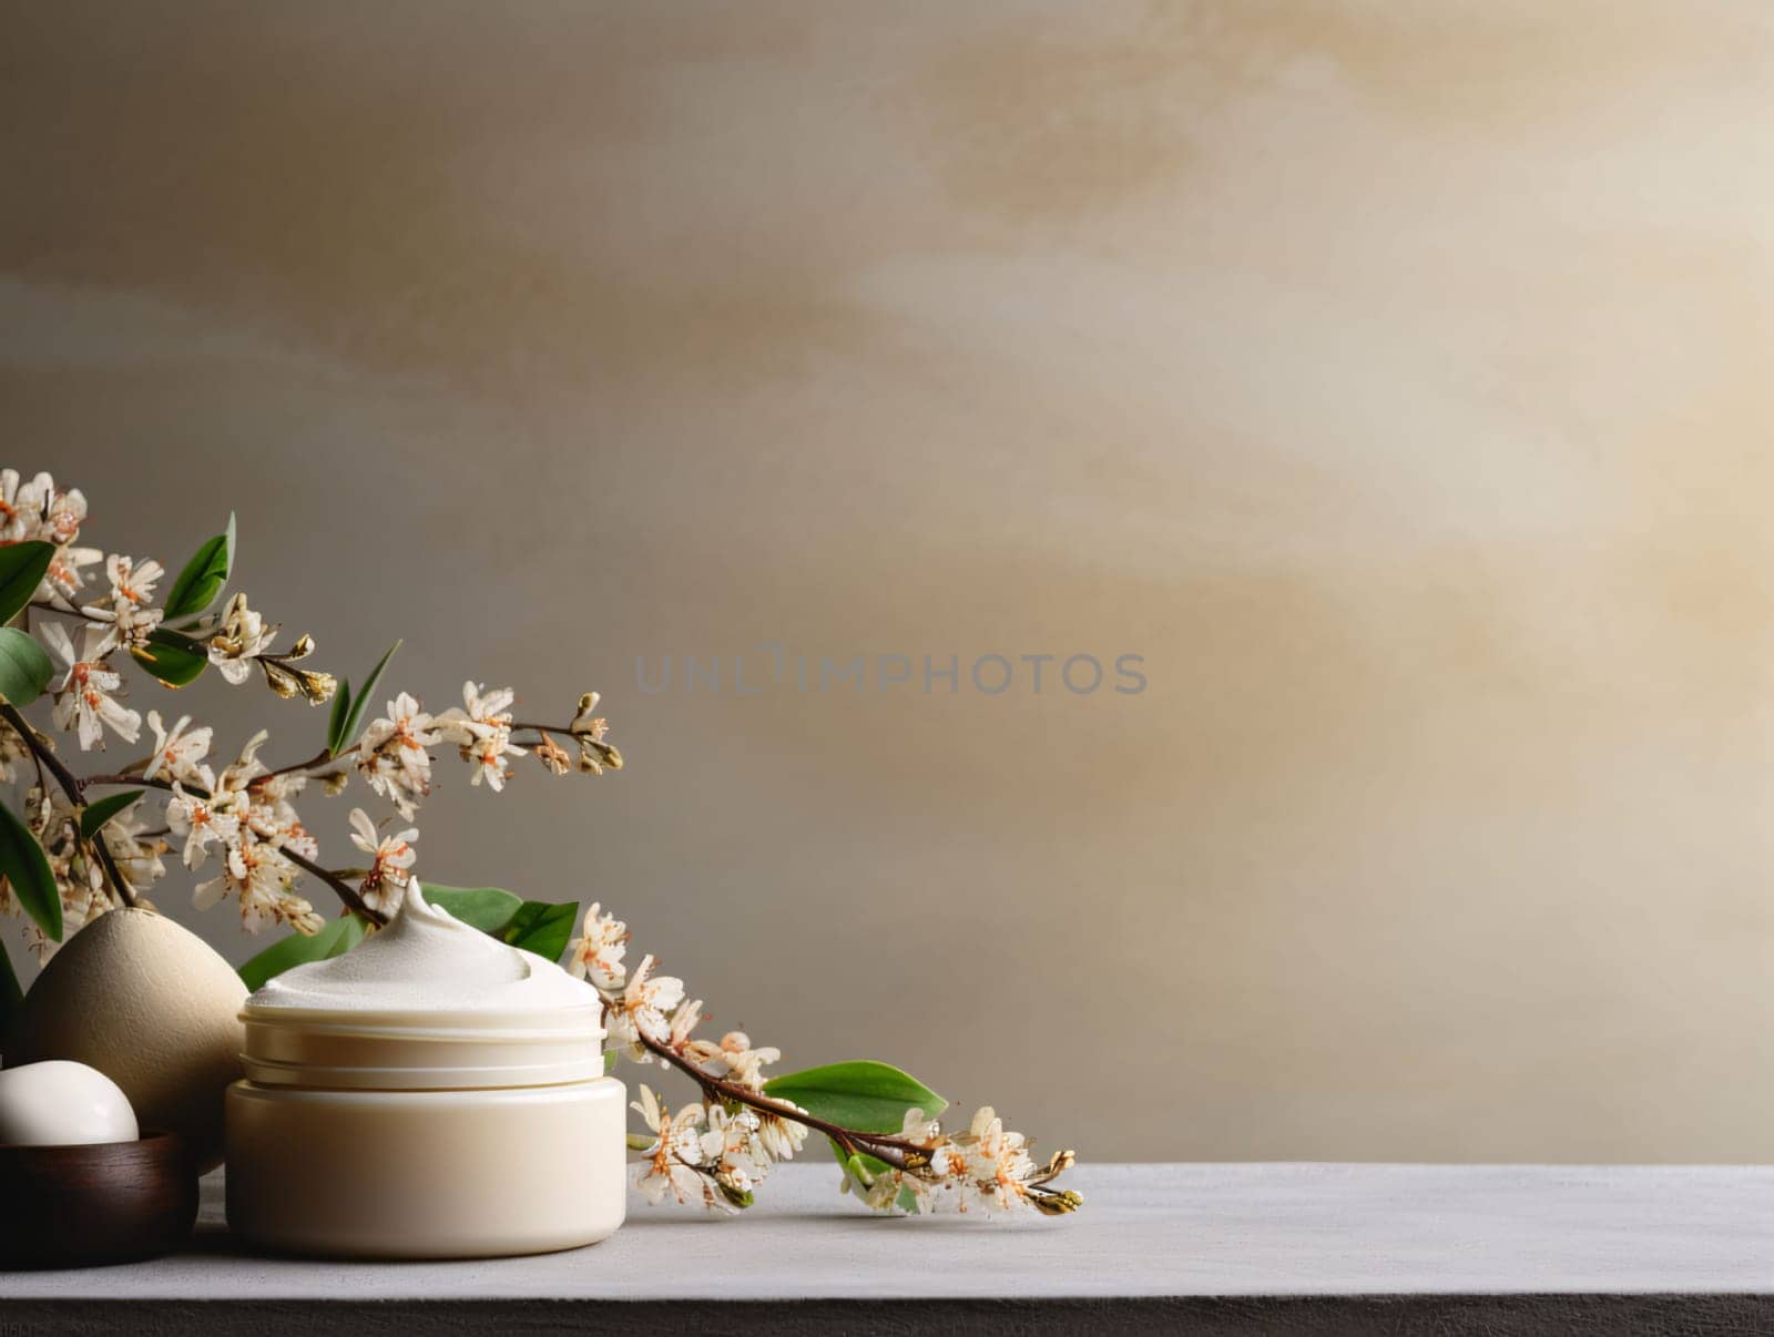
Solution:
M1095 1158L1774 1158L1763 5L4 30L7 459L238 509L337 672L605 692L422 874ZM637 688L759 642L1150 686Z

